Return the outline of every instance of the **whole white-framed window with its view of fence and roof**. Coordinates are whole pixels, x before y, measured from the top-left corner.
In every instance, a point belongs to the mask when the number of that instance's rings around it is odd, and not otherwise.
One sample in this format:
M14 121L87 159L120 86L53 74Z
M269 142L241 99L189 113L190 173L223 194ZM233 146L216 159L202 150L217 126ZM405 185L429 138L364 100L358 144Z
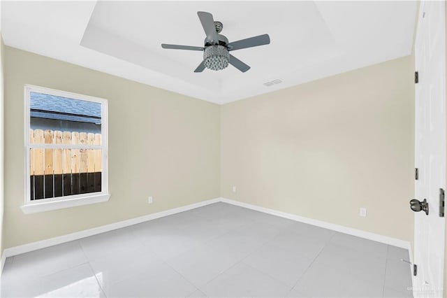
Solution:
M24 213L108 201L107 101L25 86Z

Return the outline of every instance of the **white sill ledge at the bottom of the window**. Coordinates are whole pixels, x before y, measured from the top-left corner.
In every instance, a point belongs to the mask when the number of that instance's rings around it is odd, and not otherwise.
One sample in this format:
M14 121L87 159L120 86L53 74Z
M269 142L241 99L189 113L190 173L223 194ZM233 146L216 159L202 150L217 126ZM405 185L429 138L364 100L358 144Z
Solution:
M108 201L109 199L110 194L96 194L88 197L64 199L63 201L45 201L41 203L29 203L20 206L20 208L22 208L23 213L29 214L29 213L38 213L62 208L88 205L88 204L96 204L101 203L103 201Z

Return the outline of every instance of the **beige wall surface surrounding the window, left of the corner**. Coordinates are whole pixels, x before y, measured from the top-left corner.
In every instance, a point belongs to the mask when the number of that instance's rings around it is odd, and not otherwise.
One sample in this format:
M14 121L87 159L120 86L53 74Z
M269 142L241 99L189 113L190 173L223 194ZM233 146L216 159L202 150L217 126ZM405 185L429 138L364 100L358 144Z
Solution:
M219 197L218 105L10 47L5 77L6 248ZM110 201L22 213L25 84L108 99Z

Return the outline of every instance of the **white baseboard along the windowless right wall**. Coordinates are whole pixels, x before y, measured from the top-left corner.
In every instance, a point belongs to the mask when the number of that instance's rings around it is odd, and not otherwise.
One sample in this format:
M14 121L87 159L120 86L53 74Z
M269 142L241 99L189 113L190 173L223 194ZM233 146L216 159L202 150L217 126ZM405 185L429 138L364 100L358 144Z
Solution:
M288 218L289 220L295 220L295 221L298 221L298 222L304 222L304 223L307 223L309 225L314 225L316 227L323 227L325 229L332 229L333 231L342 232L344 234L349 234L349 235L352 235L352 236L358 236L360 238L365 238L365 239L369 239L369 240L373 240L373 241L389 244L391 246L397 246L397 247L405 248L405 249L409 249L409 250L411 249L409 241L404 241L404 240L396 239L396 238L393 238L393 237L383 236L383 235L380 235L380 234L374 234L374 233L371 233L371 232L362 231L361 229L353 229L351 227L344 227L342 225L336 225L336 224L332 224L330 222L323 222L321 220L314 220L312 218L304 218L304 217L299 216L299 215L295 215L295 214L291 214L291 213L285 213L285 212L281 212L281 211L276 211L274 209L264 208L264 207L260 207L260 206L256 206L256 205L251 205L251 204L244 203L242 201L235 201L233 199L226 199L226 198L220 198L220 199L224 203L233 204L233 205L241 206L241 207L244 207L244 208L249 208L249 209L252 209L252 210L255 210L255 211L260 211L260 212L268 213L268 214L271 214L271 215L276 215L276 216L279 216L281 218Z

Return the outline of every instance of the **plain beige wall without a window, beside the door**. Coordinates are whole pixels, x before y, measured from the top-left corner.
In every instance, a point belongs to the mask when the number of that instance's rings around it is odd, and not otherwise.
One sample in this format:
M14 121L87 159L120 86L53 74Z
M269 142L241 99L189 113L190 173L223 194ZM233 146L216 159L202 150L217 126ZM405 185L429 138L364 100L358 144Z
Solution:
M223 105L221 196L410 241L412 67L403 57Z

